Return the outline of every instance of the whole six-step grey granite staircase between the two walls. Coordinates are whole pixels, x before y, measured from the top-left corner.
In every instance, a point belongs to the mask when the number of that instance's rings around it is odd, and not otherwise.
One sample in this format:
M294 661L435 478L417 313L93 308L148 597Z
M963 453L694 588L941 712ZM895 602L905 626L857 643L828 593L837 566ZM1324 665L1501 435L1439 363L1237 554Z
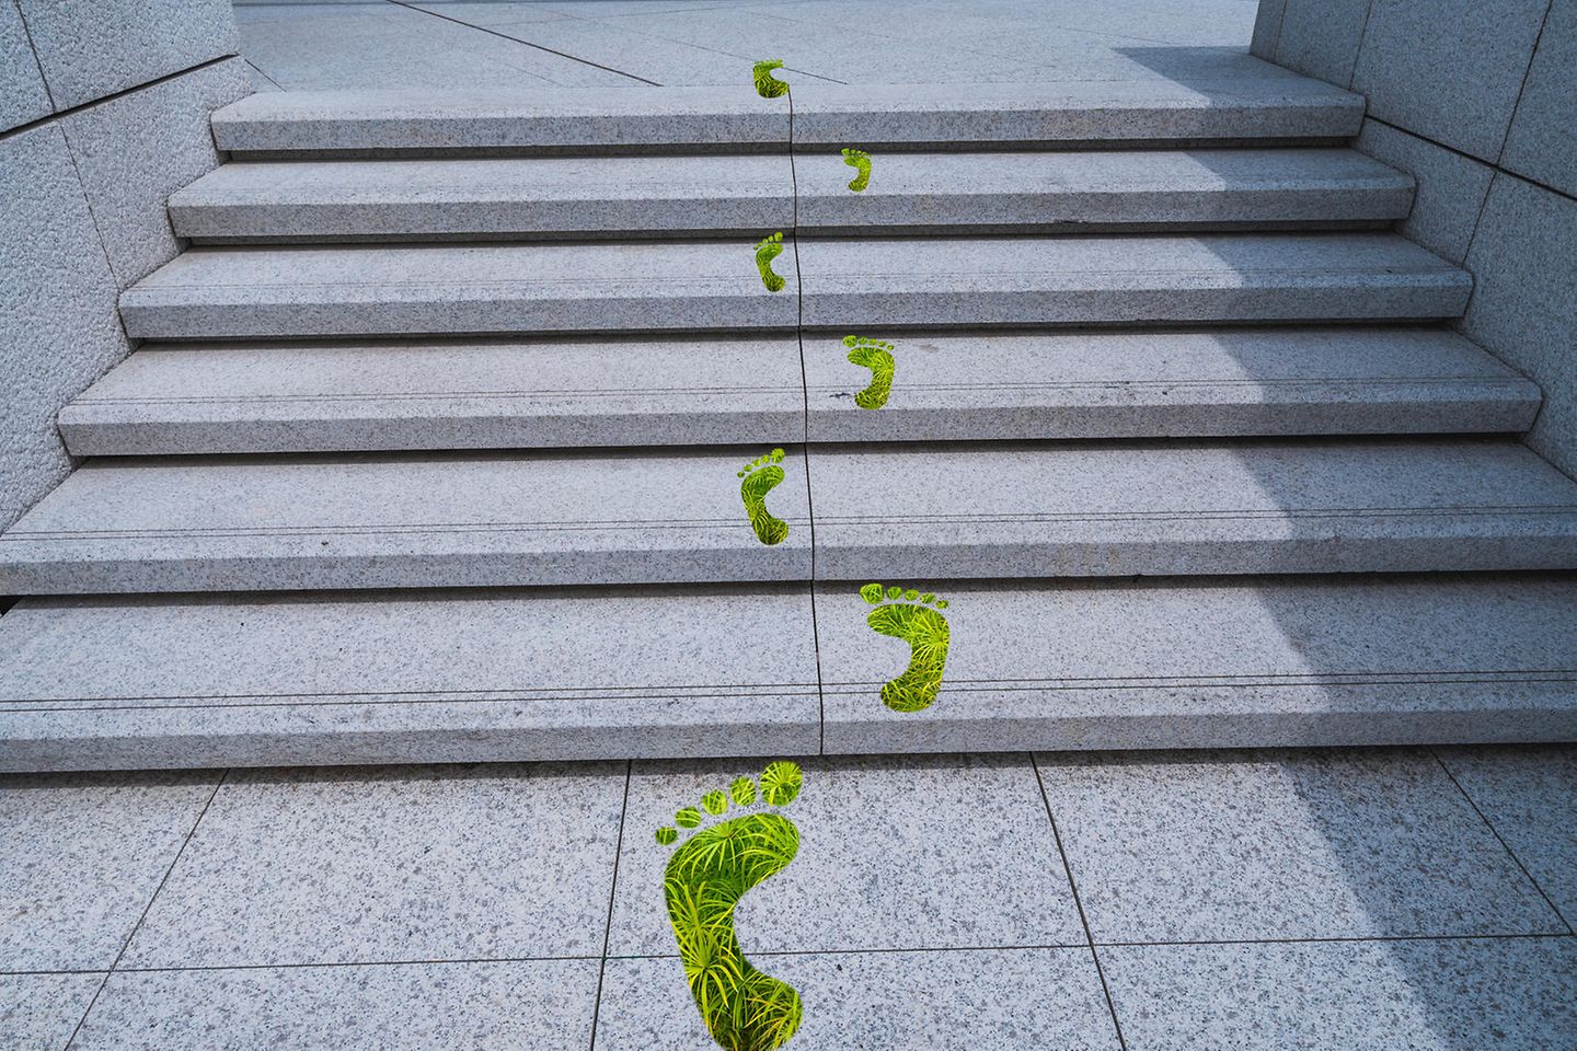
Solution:
M0 536L0 769L1571 739L1577 485L1361 113L1246 55L221 110ZM871 580L951 602L924 712Z

